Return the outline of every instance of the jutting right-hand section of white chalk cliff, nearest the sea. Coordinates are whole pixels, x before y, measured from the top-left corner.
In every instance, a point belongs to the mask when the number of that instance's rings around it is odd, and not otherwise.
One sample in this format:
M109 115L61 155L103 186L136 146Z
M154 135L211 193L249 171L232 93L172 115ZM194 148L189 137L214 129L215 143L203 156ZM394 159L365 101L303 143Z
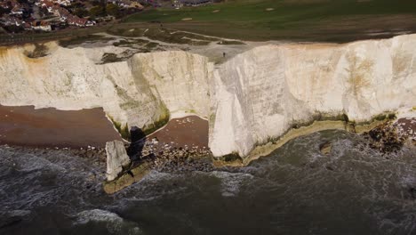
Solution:
M214 72L215 155L247 155L316 114L367 121L416 105L416 35L348 45L270 45ZM233 141L230 141L233 140Z

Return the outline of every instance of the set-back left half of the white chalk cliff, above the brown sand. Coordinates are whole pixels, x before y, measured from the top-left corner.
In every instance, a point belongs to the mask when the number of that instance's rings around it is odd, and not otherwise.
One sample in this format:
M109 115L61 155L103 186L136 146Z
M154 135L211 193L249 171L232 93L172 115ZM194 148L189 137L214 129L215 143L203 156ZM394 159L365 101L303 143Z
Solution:
M36 108L103 107L121 124L146 127L172 114L209 113L207 59L184 52L136 54L129 61L98 64L116 48L66 49L29 58L32 46L0 53L0 103ZM99 58L99 60L96 60Z

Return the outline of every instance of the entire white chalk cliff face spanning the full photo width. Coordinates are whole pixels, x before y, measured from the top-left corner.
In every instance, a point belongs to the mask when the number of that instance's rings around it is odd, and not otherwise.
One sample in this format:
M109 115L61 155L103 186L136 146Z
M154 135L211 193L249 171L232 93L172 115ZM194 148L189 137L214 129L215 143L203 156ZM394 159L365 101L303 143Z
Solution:
M0 52L0 103L103 107L117 122L151 126L195 113L210 121L214 156L246 156L316 114L366 121L416 106L416 35L348 45L267 45L214 65L185 52L141 53L98 64L115 48Z

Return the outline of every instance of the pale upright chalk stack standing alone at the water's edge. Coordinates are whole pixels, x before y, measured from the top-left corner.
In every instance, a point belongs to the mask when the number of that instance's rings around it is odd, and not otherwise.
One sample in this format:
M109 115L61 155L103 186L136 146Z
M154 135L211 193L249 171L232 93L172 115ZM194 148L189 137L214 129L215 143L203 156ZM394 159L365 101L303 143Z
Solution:
M106 143L107 152L107 181L113 181L123 171L123 167L129 166L131 161L124 148L124 143L113 141Z

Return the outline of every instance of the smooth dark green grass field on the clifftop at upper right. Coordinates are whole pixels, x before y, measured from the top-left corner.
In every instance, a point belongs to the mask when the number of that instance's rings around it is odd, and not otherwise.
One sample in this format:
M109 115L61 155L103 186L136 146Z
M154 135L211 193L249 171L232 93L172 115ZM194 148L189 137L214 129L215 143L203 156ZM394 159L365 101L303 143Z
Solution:
M124 21L161 21L166 27L251 40L349 41L415 31L416 1L235 0L180 10L152 9Z

